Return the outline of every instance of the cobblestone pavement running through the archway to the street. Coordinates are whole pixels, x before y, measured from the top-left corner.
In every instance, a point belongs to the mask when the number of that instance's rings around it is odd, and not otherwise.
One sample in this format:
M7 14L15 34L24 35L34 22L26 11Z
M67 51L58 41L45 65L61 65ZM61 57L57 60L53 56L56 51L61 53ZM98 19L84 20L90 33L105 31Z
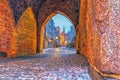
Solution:
M75 53L49 48L34 56L0 59L0 80L91 80L86 59Z

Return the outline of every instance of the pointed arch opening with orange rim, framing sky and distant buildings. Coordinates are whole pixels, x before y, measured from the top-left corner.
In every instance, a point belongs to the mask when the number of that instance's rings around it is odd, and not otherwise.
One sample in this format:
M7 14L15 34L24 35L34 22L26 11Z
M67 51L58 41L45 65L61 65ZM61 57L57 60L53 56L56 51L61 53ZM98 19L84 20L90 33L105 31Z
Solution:
M62 20L62 17L64 17L63 19L65 20ZM49 29L51 30L48 31ZM66 14L60 11L49 15L40 27L39 46L40 52L43 52L43 49L45 48L56 47L75 49L76 30L74 24L72 23L72 20Z

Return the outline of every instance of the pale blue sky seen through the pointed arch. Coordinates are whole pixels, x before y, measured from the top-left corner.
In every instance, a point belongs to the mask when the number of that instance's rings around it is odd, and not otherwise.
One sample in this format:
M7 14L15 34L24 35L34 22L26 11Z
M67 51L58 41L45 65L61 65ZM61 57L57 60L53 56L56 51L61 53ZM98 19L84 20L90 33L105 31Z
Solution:
M56 14L52 19L54 20L55 27L60 27L60 32L63 31L63 26L65 26L65 33L70 31L70 27L73 26L70 20L61 14Z

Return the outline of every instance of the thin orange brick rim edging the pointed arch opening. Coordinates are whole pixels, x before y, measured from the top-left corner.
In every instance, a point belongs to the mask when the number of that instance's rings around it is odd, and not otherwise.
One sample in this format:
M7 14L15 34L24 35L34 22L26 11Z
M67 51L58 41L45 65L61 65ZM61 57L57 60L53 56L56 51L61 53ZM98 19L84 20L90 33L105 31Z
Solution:
M54 17L56 14L61 14L63 16L65 16L72 24L73 24L73 21L63 12L61 11L56 11L54 13L51 13L46 19L45 21L43 22L42 26L40 27L40 43L38 44L39 45L39 50L40 52L43 51L43 39L44 39L44 29L46 27L46 23L52 18ZM73 24L74 25L74 24Z

